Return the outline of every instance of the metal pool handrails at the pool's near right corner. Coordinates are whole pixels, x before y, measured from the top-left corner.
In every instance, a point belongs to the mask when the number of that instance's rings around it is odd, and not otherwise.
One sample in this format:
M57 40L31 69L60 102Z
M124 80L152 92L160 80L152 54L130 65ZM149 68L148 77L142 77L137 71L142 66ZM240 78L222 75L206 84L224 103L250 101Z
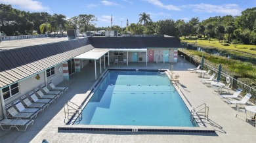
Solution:
M196 108L193 108L192 110L190 110L190 121L194 124L195 118L194 116L197 116L200 118L200 116L205 117L207 120L209 120L208 116L209 116L209 107L206 106L205 103L200 104L199 106L197 106Z

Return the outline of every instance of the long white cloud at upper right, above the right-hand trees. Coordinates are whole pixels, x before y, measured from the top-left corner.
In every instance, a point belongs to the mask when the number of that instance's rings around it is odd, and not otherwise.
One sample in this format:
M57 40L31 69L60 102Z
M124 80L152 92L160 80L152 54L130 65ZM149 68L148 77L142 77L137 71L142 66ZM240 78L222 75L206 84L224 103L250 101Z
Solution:
M208 12L208 13L219 13L219 14L230 14L237 16L241 14L241 10L236 4L224 4L224 5L209 5L200 3L198 5L185 5L182 7L191 8L194 12Z

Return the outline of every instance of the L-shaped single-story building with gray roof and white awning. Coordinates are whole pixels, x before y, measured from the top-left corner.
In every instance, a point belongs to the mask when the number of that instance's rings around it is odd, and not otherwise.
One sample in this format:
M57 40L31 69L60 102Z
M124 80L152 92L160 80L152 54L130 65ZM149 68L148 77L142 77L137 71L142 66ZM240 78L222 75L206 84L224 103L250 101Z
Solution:
M5 106L28 95L47 81L69 80L89 61L106 65L117 62L177 62L175 37L85 37L81 39L39 38L3 41L0 44L0 118ZM106 64L107 63L107 64ZM106 64L106 65L105 65ZM101 72L101 65L100 65Z

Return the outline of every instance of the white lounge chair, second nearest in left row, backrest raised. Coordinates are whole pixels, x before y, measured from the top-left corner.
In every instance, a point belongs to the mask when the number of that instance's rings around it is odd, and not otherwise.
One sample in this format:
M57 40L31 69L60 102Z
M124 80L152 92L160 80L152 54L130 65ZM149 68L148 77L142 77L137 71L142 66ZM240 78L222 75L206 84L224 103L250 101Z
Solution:
M16 109L14 109L14 107L11 104L7 104L7 106L5 106L5 109L7 110L7 112L9 112L9 114L7 116L9 116L9 118L16 118L16 119L22 119L22 118L34 118L36 116L36 114L34 113L21 113L18 112Z

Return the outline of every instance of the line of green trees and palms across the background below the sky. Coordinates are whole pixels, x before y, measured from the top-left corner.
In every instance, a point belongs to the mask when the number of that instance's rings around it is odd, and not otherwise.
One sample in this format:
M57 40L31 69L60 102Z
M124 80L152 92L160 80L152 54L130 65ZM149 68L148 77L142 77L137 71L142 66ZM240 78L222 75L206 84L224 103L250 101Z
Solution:
M93 14L79 14L66 19L62 14L48 14L47 12L25 12L17 10L11 5L0 4L0 31L5 35L31 35L36 33L63 33L66 29L79 29L85 31L117 30L125 34L170 35L174 37L198 36L204 39L219 39L224 42L239 42L243 44L256 44L256 7L247 8L240 16L215 16L202 20L191 18L184 20L158 20L152 22L150 14L139 14L137 24L125 27L113 25L112 27L96 27L93 22L97 18Z

